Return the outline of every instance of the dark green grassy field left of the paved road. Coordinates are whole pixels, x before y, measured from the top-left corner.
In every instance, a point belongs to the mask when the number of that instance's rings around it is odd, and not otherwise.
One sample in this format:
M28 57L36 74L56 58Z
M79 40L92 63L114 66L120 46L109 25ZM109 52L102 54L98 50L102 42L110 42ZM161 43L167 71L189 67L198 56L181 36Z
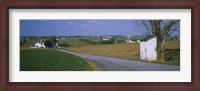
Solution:
M20 71L82 71L89 68L83 58L57 50L20 50Z

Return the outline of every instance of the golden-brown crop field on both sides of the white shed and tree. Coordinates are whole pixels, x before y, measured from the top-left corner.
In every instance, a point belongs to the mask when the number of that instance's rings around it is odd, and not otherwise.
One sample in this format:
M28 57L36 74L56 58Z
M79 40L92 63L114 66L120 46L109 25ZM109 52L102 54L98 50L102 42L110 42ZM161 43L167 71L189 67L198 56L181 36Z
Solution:
M105 44L105 45L79 45L65 48L66 50L98 56L115 57L130 60L140 60L139 43ZM180 65L180 41L166 41L166 64ZM141 60L140 60L141 61ZM164 63L164 64L165 64Z

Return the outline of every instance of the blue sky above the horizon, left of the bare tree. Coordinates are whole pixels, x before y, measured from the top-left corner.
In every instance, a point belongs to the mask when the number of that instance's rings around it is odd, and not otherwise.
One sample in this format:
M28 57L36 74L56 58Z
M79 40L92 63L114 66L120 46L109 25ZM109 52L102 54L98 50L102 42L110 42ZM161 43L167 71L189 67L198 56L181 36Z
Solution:
M20 36L141 35L136 20L20 20Z

